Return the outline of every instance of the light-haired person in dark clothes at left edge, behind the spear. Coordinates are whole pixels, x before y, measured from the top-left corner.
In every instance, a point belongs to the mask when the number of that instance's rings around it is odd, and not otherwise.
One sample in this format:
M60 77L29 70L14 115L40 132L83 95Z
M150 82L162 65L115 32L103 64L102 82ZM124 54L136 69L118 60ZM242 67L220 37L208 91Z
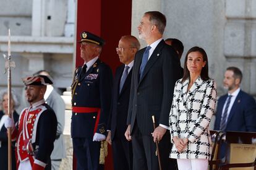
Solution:
M11 91L11 112L14 119L14 124L19 120L19 114L15 111L15 108L19 107L19 100L14 91ZM0 166L1 170L8 169L8 137L7 129L4 127L4 121L8 117L8 91L0 91ZM12 169L16 169L15 163L15 142L12 142Z

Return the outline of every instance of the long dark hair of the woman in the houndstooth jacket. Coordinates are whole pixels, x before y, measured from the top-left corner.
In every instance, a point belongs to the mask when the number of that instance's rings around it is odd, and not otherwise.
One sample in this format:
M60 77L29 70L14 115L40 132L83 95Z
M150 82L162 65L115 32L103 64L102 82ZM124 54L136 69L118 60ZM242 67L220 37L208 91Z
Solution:
M189 69L187 69L187 57L189 56L189 53L192 53L192 52L199 52L199 53L202 54L203 61L206 61L206 64L205 64L205 67L202 68L200 76L201 76L202 80L209 80L210 78L208 76L208 57L207 57L207 53L205 53L204 49L202 49L198 46L194 46L194 47L190 48L189 51L187 51L186 58L185 58L185 61L184 61L184 75L182 77L181 82L183 83L185 80L190 78Z

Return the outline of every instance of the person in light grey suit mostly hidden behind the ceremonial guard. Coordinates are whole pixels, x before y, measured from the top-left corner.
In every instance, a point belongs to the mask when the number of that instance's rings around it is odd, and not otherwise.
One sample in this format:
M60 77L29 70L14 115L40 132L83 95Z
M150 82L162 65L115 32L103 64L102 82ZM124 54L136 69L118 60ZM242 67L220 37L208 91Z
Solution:
M39 70L34 75L49 75L47 70ZM61 159L66 158L66 148L64 143L64 126L65 126L65 103L61 95L54 89L53 85L47 85L44 95L45 103L47 103L54 111L57 117L57 134L54 141L53 152L51 153L51 169L58 170L61 165Z

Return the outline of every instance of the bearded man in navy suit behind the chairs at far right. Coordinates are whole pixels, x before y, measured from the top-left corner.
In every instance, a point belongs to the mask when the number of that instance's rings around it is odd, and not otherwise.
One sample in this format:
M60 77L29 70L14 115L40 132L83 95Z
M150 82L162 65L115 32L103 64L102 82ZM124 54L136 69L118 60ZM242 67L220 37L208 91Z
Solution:
M224 88L228 94L218 100L215 130L256 132L256 103L240 88L242 72L228 67L224 74Z

